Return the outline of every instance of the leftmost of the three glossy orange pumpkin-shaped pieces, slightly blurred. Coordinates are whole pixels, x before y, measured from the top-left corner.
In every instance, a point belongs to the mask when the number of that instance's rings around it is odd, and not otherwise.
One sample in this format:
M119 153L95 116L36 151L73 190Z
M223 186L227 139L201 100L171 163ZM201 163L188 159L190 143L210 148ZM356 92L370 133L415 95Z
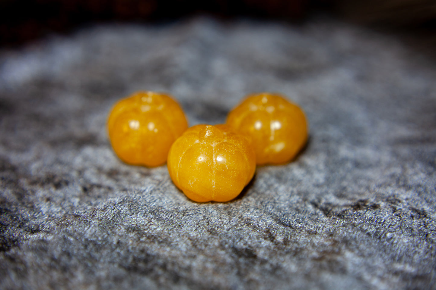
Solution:
M167 161L171 145L187 128L187 120L169 95L139 91L114 105L107 128L112 148L121 160L158 166Z

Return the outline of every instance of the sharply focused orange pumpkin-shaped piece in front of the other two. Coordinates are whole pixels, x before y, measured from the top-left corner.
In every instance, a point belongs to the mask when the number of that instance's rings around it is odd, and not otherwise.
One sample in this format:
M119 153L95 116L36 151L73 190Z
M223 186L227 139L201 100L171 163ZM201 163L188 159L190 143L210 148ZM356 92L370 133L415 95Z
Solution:
M227 125L196 125L168 153L174 184L196 201L234 199L252 179L256 161L248 139Z

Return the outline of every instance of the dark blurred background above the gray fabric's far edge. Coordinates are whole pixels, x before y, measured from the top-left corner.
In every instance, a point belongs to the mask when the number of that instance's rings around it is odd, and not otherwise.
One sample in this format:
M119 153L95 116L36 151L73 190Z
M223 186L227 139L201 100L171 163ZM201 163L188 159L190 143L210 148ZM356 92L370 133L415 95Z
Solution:
M88 24L166 22L195 14L292 23L323 14L426 36L436 27L435 0L0 0L0 46L16 46Z

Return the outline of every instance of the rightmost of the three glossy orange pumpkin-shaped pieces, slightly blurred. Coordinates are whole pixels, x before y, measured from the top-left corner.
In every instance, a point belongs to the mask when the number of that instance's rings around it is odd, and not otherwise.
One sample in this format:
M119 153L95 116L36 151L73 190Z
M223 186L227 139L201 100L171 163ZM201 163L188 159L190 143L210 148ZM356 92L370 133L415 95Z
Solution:
M226 123L251 138L259 165L288 162L307 142L303 110L278 94L249 95L228 114Z

